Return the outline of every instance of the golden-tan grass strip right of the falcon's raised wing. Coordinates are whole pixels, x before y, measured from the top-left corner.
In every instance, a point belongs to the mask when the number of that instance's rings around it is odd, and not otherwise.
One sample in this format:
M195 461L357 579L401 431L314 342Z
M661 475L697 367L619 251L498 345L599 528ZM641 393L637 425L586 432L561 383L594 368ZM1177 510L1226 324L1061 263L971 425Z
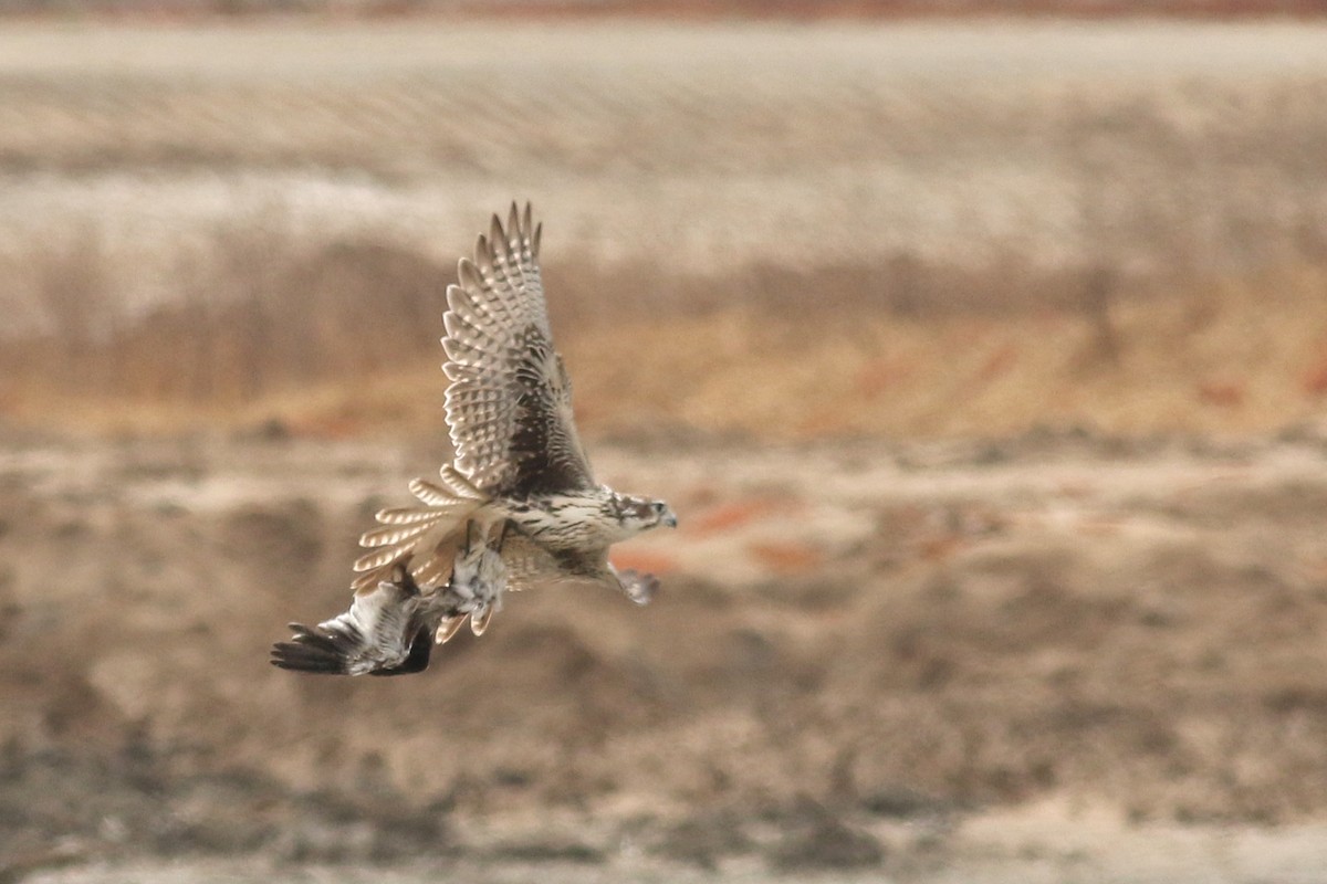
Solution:
M662 414L758 437L1262 432L1322 414L1324 294L1314 269L1121 298L1111 351L1101 317L1066 306L821 319L731 310L577 338L568 360L601 428Z

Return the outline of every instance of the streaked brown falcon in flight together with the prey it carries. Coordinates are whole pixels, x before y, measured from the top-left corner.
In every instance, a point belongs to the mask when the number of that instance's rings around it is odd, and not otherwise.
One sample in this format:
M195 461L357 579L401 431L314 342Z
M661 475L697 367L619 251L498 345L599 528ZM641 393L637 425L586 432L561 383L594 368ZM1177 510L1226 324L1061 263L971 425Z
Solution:
M483 635L506 590L593 583L650 600L658 580L618 571L608 549L677 526L667 504L594 481L576 433L572 387L553 350L539 273L541 225L512 203L494 215L475 257L447 288L447 429L455 452L441 481L415 478L415 506L385 509L360 538L350 608L316 627L291 624L272 648L285 669L401 675L429 665L468 619Z

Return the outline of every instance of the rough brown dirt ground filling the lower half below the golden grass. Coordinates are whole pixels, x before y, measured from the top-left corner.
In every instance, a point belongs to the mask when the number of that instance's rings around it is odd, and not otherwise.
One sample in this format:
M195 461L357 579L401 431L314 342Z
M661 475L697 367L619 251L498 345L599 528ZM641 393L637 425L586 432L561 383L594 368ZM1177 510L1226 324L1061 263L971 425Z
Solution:
M268 667L431 447L9 435L7 880L1320 880L1322 431L600 443L654 604Z

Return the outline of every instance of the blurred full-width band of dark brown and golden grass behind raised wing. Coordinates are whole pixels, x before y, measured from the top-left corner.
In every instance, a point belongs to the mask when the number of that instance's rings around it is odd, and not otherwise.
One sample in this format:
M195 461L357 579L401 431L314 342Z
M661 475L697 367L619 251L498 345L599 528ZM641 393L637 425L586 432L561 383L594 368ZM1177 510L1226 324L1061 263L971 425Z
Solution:
M442 428L450 273L431 260L376 241L226 235L195 272L179 300L127 319L106 306L94 244L44 254L46 331L0 353L0 414L117 433ZM1327 395L1327 272L1311 265L1169 290L1099 270L916 261L730 278L555 265L548 277L592 432L1262 432L1319 415Z

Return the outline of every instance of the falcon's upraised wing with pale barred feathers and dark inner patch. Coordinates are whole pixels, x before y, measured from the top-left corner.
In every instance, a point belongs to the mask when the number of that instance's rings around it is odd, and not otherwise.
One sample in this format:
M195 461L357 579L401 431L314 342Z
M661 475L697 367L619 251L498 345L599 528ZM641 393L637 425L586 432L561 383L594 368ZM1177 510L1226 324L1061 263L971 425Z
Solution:
M553 350L531 208L496 215L447 288L447 425L455 467L480 490L528 497L593 488Z

